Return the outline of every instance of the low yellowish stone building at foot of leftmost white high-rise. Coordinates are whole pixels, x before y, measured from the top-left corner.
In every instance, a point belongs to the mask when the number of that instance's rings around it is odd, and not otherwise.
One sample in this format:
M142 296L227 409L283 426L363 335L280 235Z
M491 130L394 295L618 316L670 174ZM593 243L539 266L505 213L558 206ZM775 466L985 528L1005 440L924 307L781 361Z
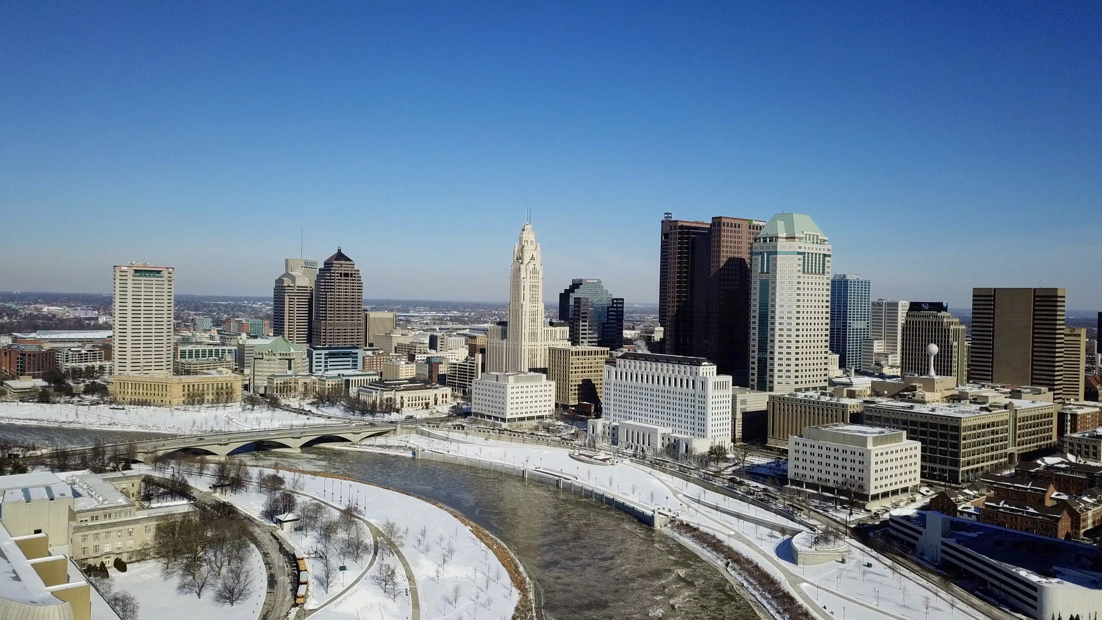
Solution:
M198 375L116 375L108 387L116 403L204 405L239 403L241 375L209 371Z

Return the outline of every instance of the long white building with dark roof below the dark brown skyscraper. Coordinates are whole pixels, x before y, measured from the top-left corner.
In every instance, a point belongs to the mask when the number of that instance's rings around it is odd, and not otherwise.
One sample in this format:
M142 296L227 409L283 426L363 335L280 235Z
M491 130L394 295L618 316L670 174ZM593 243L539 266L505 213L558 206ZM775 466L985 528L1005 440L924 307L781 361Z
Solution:
M639 421L730 446L731 377L703 357L625 353L605 366L604 419Z

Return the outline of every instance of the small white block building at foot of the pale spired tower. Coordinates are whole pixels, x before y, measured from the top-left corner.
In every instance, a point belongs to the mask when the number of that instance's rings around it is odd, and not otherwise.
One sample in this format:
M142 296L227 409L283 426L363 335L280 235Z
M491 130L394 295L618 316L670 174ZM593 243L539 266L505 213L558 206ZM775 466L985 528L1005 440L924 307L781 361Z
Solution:
M493 426L531 426L553 414L554 382L542 373L485 373L471 382L471 415Z

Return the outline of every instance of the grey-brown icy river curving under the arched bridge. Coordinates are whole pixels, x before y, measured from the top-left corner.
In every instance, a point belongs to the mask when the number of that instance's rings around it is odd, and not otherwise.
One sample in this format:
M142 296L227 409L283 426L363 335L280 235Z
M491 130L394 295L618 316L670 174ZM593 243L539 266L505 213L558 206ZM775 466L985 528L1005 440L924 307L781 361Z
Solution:
M21 440L40 445L50 438L66 445L120 438L118 431L10 425L0 426L0 434L14 428ZM326 448L246 458L341 473L463 513L525 564L547 620L757 619L723 575L673 539L615 509L547 484L458 464Z

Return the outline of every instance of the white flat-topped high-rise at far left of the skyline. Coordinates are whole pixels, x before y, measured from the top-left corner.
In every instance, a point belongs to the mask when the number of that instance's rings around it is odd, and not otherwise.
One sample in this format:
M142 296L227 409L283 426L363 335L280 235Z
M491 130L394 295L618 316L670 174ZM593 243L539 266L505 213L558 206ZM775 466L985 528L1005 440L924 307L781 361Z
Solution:
M172 374L174 292L172 267L115 266L115 374Z

